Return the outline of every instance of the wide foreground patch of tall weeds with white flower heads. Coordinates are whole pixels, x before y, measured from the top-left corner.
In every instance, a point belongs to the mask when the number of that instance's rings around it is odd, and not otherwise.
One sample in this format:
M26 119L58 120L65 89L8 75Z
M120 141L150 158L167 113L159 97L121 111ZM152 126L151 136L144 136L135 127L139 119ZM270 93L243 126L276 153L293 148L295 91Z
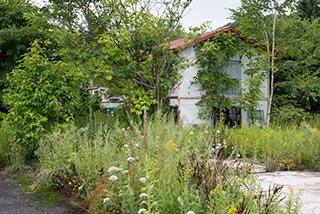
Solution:
M262 192L250 166L238 163L238 136L157 115L144 131L135 123L94 134L66 127L43 139L37 155L43 181L82 199L90 213L281 213L282 187Z

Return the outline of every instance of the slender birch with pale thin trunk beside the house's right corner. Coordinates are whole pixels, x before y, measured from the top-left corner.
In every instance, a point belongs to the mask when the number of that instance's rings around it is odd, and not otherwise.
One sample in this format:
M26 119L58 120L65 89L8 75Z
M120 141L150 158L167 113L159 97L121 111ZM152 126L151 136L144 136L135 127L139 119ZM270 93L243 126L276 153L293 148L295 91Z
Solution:
M293 8L292 3L292 0L241 0L241 6L238 9L231 10L233 19L239 23L239 29L244 35L265 45L270 53L267 58L270 60L267 124L270 123L274 75L278 70L275 66L277 21Z

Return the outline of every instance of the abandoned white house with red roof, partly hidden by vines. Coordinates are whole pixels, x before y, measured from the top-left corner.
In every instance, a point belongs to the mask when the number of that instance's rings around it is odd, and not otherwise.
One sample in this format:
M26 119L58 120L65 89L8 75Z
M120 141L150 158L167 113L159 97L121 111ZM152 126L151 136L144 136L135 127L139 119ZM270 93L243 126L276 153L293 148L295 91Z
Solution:
M178 54L186 57L190 62L196 61L196 49L195 45L202 43L216 35L220 35L226 32L232 32L238 36L241 35L241 32L235 29L234 27L227 26L220 28L218 30L208 32L203 34L197 41L194 43L189 43L187 39L179 39L172 41L170 43L170 48L177 52ZM253 48L254 47L253 45ZM264 49L263 46L260 48ZM244 126L249 124L249 114L250 112L244 111L241 108L241 105L237 104L237 98L240 96L240 90L243 87L246 87L244 81L248 78L244 74L246 70L246 65L249 63L249 59L245 56L239 57L235 56L231 59L229 66L223 68L223 72L227 72L231 78L237 79L239 81L238 88L232 89L225 94L226 97L233 99L235 105L231 109L220 110L225 115L229 125L241 125ZM200 84L194 84L193 80L198 72L197 65L190 65L188 68L181 71L182 79L179 84L175 87L172 93L169 96L170 107L175 112L176 117L183 125L200 125L200 124L209 124L212 125L216 121L211 121L209 119L201 119L199 117L200 108L197 103L200 101L201 96L204 94ZM268 107L268 77L265 78L262 84L261 92L263 96L258 101L259 108L256 109L256 123L258 125L264 125L267 118L267 107ZM214 108L214 106L213 106ZM216 118L217 119L217 118ZM216 120L215 119L215 120Z

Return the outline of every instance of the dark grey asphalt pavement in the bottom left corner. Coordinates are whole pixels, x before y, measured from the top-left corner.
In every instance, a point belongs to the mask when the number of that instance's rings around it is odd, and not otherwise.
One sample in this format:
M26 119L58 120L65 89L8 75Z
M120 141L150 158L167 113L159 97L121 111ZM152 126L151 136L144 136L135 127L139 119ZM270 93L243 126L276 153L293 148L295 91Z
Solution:
M61 202L55 207L36 208L36 203L26 203L27 193L22 193L23 187L17 181L0 177L0 214L82 214L81 209L72 207L67 202Z

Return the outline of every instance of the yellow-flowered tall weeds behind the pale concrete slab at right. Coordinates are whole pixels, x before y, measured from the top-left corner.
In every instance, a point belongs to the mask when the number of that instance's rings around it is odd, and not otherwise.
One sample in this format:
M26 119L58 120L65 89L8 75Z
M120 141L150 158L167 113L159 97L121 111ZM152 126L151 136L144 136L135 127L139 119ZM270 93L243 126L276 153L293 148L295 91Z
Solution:
M229 132L242 156L274 170L320 170L320 132L303 122L299 127L250 127Z

